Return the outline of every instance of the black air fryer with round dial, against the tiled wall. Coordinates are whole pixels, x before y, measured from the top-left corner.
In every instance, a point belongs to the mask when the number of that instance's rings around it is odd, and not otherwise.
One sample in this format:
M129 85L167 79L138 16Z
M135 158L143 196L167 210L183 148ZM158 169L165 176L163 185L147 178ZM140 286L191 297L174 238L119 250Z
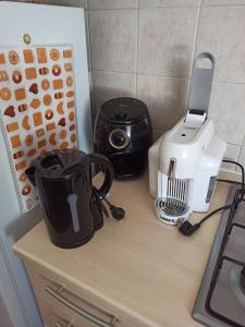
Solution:
M105 102L96 118L96 152L107 156L114 177L130 179L147 167L152 129L147 106L134 98L114 98Z

